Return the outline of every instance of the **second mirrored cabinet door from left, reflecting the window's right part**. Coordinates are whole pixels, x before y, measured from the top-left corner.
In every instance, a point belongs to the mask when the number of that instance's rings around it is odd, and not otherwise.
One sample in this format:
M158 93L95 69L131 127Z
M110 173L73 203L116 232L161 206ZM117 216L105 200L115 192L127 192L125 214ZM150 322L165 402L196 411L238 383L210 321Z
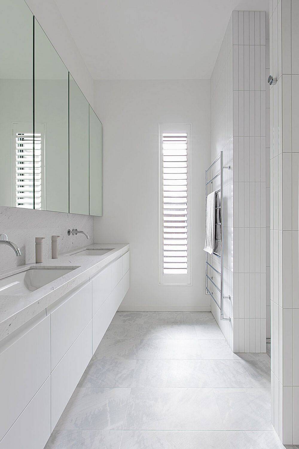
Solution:
M69 211L69 71L35 19L35 209Z

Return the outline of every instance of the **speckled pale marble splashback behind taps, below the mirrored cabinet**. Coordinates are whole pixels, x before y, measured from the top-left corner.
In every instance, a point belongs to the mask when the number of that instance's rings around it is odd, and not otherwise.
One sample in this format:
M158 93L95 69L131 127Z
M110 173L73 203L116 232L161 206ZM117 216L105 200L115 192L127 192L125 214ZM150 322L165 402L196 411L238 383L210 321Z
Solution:
M0 270L34 263L35 237L45 237L44 259L51 257L52 235L61 236L58 239L59 253L86 245L87 239L83 234L67 235L67 230L73 228L83 230L89 235L88 244L94 242L93 216L1 207L0 234L7 234L8 239L20 248L22 256L17 257L12 248L1 245Z

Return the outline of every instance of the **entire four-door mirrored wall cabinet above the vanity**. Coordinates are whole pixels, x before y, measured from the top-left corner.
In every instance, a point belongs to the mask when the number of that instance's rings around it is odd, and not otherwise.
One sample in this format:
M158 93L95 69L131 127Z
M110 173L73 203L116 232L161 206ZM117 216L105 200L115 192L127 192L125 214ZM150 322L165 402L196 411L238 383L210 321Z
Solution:
M0 0L0 201L102 215L102 123L24 0Z

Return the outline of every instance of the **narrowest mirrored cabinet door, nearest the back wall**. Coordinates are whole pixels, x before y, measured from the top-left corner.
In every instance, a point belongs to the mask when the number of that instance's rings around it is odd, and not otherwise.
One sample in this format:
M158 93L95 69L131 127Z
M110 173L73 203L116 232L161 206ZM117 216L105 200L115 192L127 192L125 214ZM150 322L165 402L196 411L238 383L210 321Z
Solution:
M102 216L102 123L89 106L89 214Z

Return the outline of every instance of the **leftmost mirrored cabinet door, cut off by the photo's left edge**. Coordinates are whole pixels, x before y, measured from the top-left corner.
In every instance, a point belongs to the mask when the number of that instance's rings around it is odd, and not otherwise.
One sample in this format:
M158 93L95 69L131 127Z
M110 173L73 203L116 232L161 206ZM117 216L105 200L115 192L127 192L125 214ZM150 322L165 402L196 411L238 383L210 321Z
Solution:
M0 0L1 206L33 209L33 15Z

